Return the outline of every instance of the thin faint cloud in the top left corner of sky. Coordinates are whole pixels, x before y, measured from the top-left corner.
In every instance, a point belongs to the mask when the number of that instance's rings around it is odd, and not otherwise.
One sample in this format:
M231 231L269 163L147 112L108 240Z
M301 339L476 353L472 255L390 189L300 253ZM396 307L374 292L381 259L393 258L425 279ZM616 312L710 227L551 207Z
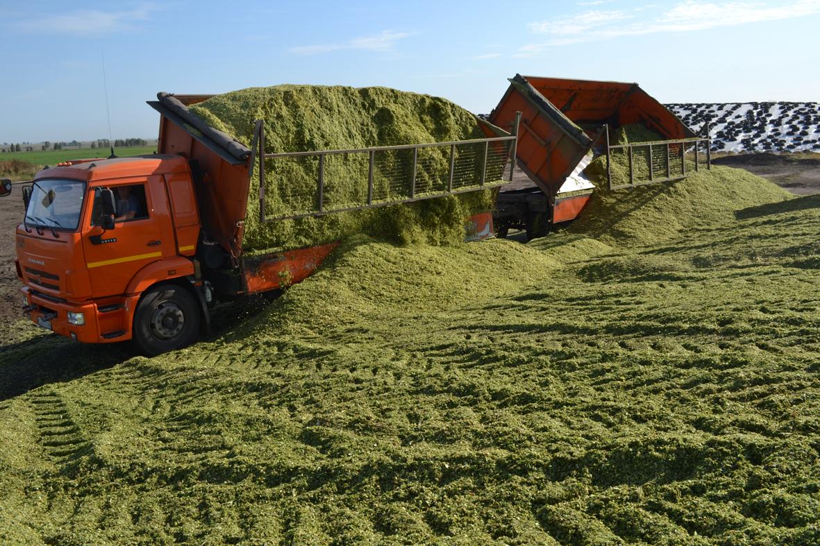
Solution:
M141 4L128 11L76 10L66 13L28 17L12 23L16 30L37 34L71 34L75 36L102 36L136 30L139 22L149 19L153 4Z

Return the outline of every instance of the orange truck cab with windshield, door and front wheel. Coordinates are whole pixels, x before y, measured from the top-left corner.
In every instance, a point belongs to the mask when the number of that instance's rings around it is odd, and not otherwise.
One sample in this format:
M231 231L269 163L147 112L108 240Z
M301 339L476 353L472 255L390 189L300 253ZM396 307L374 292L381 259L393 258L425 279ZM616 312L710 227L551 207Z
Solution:
M147 353L196 339L212 294L195 268L191 180L185 157L171 155L40 171L16 230L32 320L86 343L136 339Z

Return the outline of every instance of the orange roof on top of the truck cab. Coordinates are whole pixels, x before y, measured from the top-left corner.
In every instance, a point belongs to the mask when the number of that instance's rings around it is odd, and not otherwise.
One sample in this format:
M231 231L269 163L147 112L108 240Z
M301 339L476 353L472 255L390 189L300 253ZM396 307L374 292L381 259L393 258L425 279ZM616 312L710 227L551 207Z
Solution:
M76 180L110 180L129 176L167 175L188 171L185 157L164 154L136 157L114 157L112 159L78 160L69 165L43 169L34 176L42 178L72 178Z

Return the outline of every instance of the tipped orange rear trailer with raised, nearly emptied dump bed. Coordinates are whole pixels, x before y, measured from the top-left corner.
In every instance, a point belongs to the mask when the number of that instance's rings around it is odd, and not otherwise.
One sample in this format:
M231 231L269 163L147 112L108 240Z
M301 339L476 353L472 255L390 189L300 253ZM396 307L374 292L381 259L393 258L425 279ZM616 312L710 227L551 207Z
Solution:
M520 228L529 238L537 237L550 225L576 218L594 189L583 174L592 157L603 153L610 157L615 149L632 157L632 146L650 144L610 146L609 135L623 126L640 124L661 135L663 140L652 144L655 149L665 148L667 158L682 155L692 144L697 152L697 144L704 140L638 84L522 75L509 81L489 116L494 125L511 129L517 112L522 112L516 153L522 175L499 193L494 223L501 235ZM670 162L667 165L666 176L650 172L651 181L678 175ZM681 171L686 175L684 162Z

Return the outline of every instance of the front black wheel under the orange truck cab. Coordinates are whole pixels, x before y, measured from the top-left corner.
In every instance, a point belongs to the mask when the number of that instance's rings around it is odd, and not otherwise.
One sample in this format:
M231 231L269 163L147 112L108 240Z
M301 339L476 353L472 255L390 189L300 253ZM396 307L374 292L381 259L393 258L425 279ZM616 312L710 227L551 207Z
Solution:
M176 284L158 284L139 300L134 343L149 357L187 347L197 340L202 320L198 303Z

